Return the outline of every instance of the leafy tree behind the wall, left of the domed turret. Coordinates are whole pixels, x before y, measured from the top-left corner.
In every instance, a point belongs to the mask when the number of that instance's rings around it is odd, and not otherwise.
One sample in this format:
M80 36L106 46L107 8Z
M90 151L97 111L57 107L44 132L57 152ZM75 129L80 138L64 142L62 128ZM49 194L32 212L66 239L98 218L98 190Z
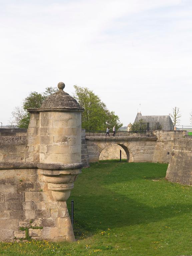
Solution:
M58 89L55 87L45 88L45 92L30 92L22 103L21 107L15 107L12 112L12 120L10 121L10 126L18 126L19 128L28 128L29 125L29 112L28 108L39 108L43 101L56 92Z

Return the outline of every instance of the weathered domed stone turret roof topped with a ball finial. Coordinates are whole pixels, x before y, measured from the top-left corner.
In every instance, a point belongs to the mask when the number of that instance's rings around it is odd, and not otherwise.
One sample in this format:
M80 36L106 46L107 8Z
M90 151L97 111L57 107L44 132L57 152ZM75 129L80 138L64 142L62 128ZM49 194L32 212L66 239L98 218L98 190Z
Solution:
M83 110L79 103L71 97L68 93L64 92L63 89L65 84L60 82L58 83L59 90L56 93L53 93L42 103L39 110L48 110L48 109L74 109L74 110Z

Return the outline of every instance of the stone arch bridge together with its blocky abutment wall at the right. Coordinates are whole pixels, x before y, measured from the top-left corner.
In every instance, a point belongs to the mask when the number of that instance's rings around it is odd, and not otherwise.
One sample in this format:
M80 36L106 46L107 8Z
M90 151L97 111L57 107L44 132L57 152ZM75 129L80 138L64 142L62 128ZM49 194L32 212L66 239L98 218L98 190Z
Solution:
M128 162L169 163L175 138L182 138L185 131L157 131L156 137L101 137L86 136L89 162L122 158Z

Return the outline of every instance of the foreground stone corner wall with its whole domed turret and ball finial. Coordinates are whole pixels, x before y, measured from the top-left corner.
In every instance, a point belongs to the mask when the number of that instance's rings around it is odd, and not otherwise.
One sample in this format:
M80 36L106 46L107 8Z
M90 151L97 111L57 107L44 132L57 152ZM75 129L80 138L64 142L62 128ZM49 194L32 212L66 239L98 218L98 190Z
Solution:
M75 241L66 200L82 168L83 109L64 87L28 109L27 133L1 130L0 241Z

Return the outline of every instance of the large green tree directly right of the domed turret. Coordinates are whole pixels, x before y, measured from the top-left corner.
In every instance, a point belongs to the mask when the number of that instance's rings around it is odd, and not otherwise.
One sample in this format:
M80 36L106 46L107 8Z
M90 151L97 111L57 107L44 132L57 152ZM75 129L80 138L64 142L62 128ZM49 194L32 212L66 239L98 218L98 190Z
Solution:
M99 96L86 87L75 85L74 98L84 108L82 113L82 128L87 131L105 131L106 127L116 126L116 130L122 126L119 117L114 111L110 112Z

